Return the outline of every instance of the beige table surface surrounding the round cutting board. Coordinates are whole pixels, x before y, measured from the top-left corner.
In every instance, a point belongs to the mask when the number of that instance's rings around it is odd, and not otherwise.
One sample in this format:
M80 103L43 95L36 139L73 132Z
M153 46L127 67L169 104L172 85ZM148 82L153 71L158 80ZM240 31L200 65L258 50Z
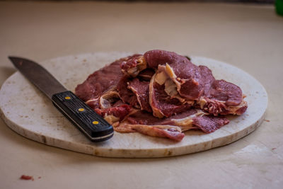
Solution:
M16 71L7 55L40 62L163 49L233 64L269 95L266 120L252 134L163 159L99 158L48 147L0 119L0 188L283 187L283 17L274 6L0 2L0 25L0 84ZM22 174L35 181L20 180Z

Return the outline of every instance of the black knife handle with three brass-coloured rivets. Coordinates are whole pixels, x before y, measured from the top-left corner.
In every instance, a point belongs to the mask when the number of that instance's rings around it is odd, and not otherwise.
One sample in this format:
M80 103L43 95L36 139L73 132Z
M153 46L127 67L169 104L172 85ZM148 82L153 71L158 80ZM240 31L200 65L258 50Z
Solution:
M93 142L110 139L113 127L71 91L52 96L55 107Z

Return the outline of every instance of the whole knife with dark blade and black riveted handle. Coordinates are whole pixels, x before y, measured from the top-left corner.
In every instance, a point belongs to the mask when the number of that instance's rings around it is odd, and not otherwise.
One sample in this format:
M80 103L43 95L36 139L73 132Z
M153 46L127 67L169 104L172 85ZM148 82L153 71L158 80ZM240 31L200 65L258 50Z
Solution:
M93 109L68 91L45 68L29 59L8 57L13 65L48 96L54 106L67 117L91 141L101 142L110 139L113 127Z

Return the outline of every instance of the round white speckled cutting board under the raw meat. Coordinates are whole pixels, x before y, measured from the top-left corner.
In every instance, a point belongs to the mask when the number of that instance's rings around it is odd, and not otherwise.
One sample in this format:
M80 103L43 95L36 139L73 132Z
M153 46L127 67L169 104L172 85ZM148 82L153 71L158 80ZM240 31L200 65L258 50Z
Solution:
M58 57L40 62L66 88L74 91L89 74L129 53L100 52ZM192 63L212 69L216 79L237 84L246 94L248 110L241 116L228 116L230 123L210 134L190 130L181 142L149 137L139 133L115 132L105 142L89 141L54 108L52 102L18 71L1 86L1 118L8 127L29 139L50 146L94 156L151 158L178 156L220 147L253 132L263 120L267 108L265 88L245 71L204 57L191 57Z

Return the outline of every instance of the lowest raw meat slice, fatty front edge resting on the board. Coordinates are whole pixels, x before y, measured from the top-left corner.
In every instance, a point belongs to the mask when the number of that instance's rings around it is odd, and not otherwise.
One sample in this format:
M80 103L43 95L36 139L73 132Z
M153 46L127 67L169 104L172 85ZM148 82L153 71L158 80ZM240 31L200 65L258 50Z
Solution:
M183 139L186 130L202 130L210 133L229 123L224 117L207 115L202 110L189 109L171 118L159 119L140 110L114 127L118 132L140 132L151 137L167 137L175 141Z

